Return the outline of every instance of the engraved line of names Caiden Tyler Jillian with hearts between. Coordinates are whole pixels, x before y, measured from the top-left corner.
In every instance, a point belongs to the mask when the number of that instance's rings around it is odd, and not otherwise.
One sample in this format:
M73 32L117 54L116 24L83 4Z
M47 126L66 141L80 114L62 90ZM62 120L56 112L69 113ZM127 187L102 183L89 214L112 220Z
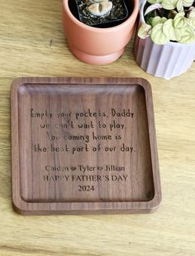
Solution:
M106 165L105 167L90 167L78 165L78 167L45 166L45 171L126 171L126 167Z

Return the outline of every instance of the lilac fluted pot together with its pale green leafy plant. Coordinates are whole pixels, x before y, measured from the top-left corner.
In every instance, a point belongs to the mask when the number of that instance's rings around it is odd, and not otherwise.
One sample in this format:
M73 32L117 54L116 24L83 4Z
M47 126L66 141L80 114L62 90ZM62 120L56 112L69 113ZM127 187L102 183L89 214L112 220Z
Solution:
M193 0L148 0L140 7L136 62L151 75L171 79L195 60Z

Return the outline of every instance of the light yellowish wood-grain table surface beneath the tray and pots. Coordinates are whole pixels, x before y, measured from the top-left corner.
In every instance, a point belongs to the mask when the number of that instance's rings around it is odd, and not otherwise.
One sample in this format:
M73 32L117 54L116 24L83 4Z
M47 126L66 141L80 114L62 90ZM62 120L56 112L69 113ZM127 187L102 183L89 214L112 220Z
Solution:
M69 52L60 0L0 0L0 255L195 255L195 64L173 80L146 75L132 43L110 65ZM10 85L20 76L150 81L163 201L150 215L22 216L12 210Z

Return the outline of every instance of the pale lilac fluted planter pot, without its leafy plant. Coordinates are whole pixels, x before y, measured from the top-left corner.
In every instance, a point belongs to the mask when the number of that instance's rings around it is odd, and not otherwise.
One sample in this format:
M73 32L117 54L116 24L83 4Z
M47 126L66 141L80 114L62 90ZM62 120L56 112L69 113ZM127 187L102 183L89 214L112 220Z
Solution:
M140 7L140 24L145 22L144 7L146 0ZM140 39L136 36L134 48L136 62L145 72L167 80L185 73L195 59L195 42L181 44L169 41L159 46L151 41L150 36Z

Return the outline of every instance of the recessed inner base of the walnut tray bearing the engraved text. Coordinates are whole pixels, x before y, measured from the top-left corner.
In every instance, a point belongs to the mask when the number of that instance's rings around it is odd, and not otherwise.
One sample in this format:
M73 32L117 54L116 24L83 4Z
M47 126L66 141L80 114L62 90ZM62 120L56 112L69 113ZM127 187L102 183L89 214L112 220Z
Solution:
M17 97L23 200L154 197L142 86L25 84Z

